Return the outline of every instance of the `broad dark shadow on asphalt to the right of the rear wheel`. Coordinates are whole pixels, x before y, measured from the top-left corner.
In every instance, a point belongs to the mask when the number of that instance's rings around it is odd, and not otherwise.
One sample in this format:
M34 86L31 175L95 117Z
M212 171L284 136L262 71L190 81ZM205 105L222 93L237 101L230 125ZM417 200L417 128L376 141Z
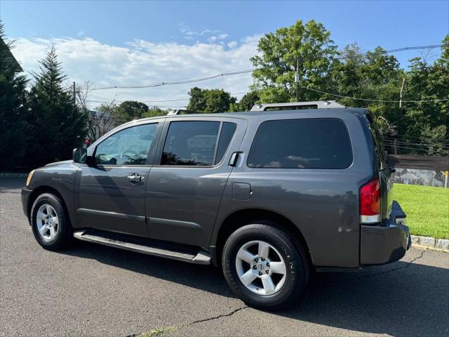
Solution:
M281 315L364 333L448 336L448 281L448 269L403 261L317 273L304 303Z

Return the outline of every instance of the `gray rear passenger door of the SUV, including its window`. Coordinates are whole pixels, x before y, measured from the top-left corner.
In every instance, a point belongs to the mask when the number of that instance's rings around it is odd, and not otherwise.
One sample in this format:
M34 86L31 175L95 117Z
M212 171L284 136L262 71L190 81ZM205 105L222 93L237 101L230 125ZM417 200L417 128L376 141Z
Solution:
M208 248L246 121L226 117L166 119L147 185L149 236Z

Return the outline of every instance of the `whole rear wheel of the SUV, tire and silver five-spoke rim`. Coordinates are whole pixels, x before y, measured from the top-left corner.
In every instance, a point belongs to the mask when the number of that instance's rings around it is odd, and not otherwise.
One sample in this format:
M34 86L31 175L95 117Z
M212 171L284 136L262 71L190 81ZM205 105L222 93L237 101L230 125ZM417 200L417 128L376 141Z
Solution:
M309 279L302 247L274 223L251 223L232 233L223 249L222 267L236 296L264 310L298 303Z

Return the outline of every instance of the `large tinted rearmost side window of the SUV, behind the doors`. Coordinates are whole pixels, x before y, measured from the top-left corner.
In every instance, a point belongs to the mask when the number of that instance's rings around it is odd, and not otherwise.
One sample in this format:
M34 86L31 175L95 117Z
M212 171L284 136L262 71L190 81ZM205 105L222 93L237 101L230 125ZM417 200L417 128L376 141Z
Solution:
M346 169L351 140L340 119L265 121L257 130L247 164L253 168Z

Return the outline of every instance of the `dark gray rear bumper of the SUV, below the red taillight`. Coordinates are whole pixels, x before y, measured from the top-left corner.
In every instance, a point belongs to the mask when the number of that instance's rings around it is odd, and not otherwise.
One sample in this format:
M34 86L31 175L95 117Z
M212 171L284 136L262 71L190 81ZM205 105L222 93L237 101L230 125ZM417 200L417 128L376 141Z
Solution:
M405 225L406 213L393 201L391 216L377 226L361 226L360 264L383 265L403 258L410 248L410 230Z

